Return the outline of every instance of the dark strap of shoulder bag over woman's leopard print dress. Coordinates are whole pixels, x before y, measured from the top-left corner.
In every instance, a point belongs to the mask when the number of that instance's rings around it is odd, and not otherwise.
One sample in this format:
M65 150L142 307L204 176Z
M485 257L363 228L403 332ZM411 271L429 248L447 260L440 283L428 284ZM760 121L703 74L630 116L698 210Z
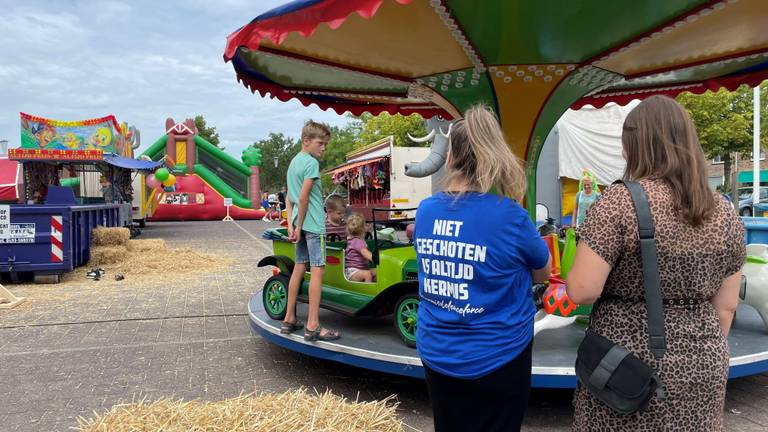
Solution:
M640 254L643 258L645 304L648 310L648 345L654 357L661 358L667 350L667 339L664 334L664 306L661 300L659 261L656 256L656 232L651 208L648 205L648 196L640 183L621 180L615 183L623 183L627 187L635 206Z

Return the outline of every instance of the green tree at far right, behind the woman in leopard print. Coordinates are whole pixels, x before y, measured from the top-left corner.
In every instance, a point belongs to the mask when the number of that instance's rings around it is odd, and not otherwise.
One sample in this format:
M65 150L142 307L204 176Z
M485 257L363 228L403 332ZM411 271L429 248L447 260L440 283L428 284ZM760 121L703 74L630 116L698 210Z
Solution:
M768 132L768 85L761 85L761 146L766 144ZM704 153L709 158L721 156L725 175L725 189L730 190L732 154L750 156L752 153L752 88L741 86L729 92L706 92L701 95L683 93L677 97L690 113Z

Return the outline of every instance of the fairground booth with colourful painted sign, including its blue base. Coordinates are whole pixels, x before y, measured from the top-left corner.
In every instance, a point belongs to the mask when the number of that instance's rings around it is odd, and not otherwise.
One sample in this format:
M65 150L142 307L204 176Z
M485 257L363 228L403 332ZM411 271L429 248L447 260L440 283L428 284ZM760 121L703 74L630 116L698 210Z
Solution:
M131 226L132 178L160 162L133 159L138 133L114 116L56 121L21 113L17 204L0 205L0 274L37 279L85 264L91 230ZM9 217L8 217L9 216Z

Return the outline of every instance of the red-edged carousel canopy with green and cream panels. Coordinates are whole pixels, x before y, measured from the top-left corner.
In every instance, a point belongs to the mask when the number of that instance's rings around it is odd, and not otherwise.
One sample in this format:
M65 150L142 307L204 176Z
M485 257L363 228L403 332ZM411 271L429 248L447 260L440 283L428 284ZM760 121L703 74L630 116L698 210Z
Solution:
M757 85L767 28L762 0L302 0L230 34L224 59L252 92L339 113L485 103L530 175L569 107Z

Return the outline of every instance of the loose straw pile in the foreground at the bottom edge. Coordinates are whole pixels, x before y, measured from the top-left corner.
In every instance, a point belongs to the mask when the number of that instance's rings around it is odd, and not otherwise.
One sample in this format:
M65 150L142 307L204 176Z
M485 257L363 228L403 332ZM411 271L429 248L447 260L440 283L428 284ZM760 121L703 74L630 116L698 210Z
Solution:
M400 432L392 396L348 402L330 392L300 389L282 394L249 394L219 402L160 399L115 405L104 415L77 419L80 432L127 431L371 431Z

